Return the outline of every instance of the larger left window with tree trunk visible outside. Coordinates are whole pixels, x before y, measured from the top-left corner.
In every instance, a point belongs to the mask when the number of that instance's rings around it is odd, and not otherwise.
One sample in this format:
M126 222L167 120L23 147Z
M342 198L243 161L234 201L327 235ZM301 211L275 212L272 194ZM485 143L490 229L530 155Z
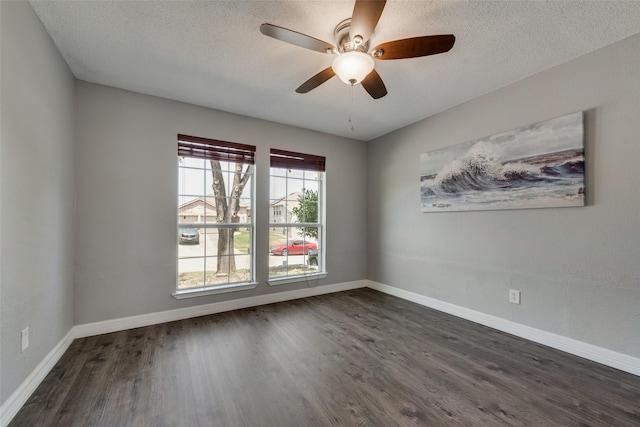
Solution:
M176 298L255 287L255 147L178 135Z

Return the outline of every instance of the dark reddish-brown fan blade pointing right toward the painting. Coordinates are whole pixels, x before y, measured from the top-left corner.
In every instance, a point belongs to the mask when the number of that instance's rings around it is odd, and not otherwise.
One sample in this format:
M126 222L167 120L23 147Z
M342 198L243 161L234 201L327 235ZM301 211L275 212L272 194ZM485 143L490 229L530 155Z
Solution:
M455 43L453 34L413 37L382 43L371 51L375 59L404 59L448 52ZM380 53L378 53L380 52Z

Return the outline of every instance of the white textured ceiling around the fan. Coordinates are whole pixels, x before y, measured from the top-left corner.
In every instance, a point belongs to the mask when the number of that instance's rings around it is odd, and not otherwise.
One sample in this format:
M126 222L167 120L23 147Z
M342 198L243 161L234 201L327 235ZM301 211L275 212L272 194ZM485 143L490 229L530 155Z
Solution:
M370 46L432 34L456 44L376 61L389 93L374 100L337 77L295 93L333 56L259 31L335 44L353 1L31 4L78 79L365 141L640 32L640 1L389 0Z

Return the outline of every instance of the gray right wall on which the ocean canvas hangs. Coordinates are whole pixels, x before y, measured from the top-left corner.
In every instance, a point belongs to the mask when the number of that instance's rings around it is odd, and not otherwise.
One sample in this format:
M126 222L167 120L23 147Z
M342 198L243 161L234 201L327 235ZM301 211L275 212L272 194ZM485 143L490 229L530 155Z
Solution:
M368 278L640 357L638 46L634 36L372 142ZM421 153L580 110L587 207L419 212Z

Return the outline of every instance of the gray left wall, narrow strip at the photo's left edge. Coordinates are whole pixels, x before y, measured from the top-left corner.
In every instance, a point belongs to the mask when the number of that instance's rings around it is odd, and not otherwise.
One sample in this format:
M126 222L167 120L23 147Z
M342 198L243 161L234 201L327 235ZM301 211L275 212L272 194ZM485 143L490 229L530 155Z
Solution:
M0 2L0 402L73 326L74 79L26 2ZM20 331L30 346L20 352Z

